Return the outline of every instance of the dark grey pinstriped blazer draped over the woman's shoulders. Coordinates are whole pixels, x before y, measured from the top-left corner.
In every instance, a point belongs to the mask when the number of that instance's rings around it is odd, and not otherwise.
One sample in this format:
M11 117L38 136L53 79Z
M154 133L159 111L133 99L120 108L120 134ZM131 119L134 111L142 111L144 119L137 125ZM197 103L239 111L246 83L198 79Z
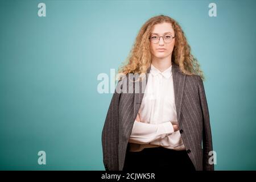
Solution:
M147 69L147 73L149 72L150 68ZM148 74L146 74L146 83L147 78ZM208 162L209 151L213 150L213 146L203 80L197 75L185 75L174 63L172 63L172 78L177 122L188 156L197 171L213 171L214 165ZM118 88L122 89L124 85L134 90L134 82L129 82L127 79L126 75L123 80L118 81L119 87L117 85L113 94L102 130L103 163L106 171L123 169L128 140L144 94L142 84L139 84L139 93L117 92Z

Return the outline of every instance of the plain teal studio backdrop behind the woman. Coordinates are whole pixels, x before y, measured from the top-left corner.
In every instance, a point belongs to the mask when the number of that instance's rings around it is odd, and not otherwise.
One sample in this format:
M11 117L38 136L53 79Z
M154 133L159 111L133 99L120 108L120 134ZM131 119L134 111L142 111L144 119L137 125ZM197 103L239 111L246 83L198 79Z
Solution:
M38 3L46 3L46 17ZM217 17L208 5L217 4ZM205 73L216 170L256 169L255 1L1 1L0 169L104 170L97 92L152 16L176 19ZM39 165L38 151L46 151Z

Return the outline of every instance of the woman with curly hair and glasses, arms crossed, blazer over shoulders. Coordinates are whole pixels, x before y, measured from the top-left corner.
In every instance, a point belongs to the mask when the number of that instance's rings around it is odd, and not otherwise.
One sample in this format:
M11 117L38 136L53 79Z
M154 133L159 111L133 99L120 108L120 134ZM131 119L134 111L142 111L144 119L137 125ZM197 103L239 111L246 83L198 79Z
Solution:
M214 170L204 76L179 24L147 20L119 73L102 131L105 169Z

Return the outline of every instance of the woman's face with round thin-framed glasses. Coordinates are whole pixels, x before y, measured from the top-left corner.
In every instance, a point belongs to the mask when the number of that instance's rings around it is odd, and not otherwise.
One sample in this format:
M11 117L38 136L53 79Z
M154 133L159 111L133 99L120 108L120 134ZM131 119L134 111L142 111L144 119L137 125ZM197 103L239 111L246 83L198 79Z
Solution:
M171 23L159 23L155 24L153 30L150 34L150 51L152 56L157 58L164 58L172 55L172 50L174 49L175 39L172 39L170 43L164 42L163 38L161 37L159 42L158 39L156 43L152 42L152 38L156 40L159 36L166 36L166 38L170 38L170 35L174 37L174 28L172 28ZM169 36L169 37L168 37Z

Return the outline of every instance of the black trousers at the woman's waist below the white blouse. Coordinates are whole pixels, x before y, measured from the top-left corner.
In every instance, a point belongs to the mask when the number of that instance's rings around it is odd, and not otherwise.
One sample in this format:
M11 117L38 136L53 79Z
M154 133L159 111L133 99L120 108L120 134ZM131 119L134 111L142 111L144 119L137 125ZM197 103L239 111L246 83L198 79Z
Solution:
M186 150L164 147L144 148L139 152L126 152L123 171L195 171ZM171 172L171 171L170 171Z

